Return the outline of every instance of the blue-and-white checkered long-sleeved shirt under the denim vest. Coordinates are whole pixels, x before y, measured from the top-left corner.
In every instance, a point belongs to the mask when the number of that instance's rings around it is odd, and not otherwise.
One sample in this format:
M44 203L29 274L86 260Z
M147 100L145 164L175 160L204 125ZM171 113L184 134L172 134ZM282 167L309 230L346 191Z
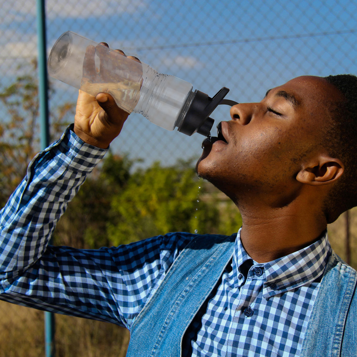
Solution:
M127 246L48 245L56 221L105 150L67 130L31 162L0 212L0 298L130 328L195 235L169 233ZM237 234L233 259L183 339L183 355L296 356L331 248L253 261Z

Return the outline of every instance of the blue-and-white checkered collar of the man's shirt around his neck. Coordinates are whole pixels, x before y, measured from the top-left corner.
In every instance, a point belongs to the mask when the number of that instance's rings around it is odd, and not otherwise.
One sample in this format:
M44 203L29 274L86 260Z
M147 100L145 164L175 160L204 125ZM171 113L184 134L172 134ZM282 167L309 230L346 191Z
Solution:
M263 296L281 294L299 286L311 283L321 278L332 250L325 230L320 239L310 246L293 252L285 257L267 263L257 263L245 251L238 231L233 253L233 272L237 275L241 270L252 264L249 272L256 267L263 268L265 281L263 282ZM263 276L262 276L263 277Z

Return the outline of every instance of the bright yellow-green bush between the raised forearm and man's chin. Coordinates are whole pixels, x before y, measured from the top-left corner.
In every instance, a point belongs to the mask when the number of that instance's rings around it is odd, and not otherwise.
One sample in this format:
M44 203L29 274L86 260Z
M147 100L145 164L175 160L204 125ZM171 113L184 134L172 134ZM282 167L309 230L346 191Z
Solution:
M205 187L192 162L172 167L156 162L137 171L112 200L115 221L107 225L110 240L118 245L170 231L218 232L220 212L214 199L200 201Z

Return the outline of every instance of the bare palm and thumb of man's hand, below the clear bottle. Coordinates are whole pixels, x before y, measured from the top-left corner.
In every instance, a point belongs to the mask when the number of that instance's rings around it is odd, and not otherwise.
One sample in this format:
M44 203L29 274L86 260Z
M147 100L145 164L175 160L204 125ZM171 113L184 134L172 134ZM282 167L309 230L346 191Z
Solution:
M74 132L87 144L106 149L120 134L128 115L110 94L99 93L94 97L80 90Z

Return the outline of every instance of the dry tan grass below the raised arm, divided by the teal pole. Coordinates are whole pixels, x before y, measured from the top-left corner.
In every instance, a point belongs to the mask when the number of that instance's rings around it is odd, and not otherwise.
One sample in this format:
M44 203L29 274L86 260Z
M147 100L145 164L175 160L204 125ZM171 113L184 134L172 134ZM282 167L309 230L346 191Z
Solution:
M0 357L45 355L44 313L0 301ZM111 323L55 315L57 357L124 357L129 331Z

